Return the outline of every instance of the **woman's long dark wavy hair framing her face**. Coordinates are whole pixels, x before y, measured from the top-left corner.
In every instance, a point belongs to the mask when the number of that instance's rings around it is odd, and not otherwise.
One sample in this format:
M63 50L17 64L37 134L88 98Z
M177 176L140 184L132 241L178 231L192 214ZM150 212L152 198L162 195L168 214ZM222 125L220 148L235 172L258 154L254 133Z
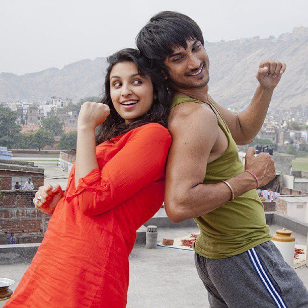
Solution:
M167 127L167 117L171 103L171 95L167 90L166 80L161 72L151 69L149 62L140 56L137 49L126 48L117 51L107 59L109 66L105 78L105 93L101 103L110 108L110 115L104 123L96 128L96 144L110 140L118 135L128 132L138 126L150 122L157 122ZM153 100L149 111L136 118L132 123L125 124L123 118L116 112L110 97L110 72L112 67L119 62L133 62L140 75L147 75L153 85L153 94L156 99Z

